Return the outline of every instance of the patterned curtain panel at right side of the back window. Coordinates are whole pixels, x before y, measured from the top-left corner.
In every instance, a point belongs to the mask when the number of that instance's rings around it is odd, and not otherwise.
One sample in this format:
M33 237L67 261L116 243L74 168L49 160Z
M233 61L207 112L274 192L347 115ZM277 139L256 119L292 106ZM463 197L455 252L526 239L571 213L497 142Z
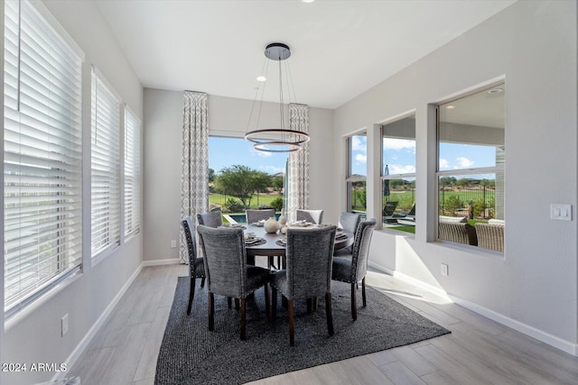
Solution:
M289 127L295 131L309 133L309 106L289 105ZM296 220L298 208L309 207L309 143L300 151L289 153L287 166L287 207L285 214L289 222Z

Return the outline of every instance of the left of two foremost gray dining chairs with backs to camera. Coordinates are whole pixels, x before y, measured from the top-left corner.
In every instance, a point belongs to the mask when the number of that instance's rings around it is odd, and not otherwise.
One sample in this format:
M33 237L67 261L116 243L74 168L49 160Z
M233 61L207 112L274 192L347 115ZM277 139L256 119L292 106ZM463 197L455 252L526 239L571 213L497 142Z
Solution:
M209 330L215 325L215 294L241 300L241 340L246 337L247 297L265 287L266 315L269 315L269 270L247 265L245 236L240 228L212 228L198 225L200 247L205 259L209 292Z

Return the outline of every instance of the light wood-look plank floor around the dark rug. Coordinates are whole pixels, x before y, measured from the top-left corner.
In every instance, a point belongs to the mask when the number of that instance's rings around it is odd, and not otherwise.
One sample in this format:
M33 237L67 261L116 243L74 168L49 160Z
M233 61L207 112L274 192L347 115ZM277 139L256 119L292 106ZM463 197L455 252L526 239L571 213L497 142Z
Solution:
M176 277L187 268L144 268L67 375L82 385L153 384ZM452 334L252 384L578 384L577 357L386 274L370 271L367 282Z

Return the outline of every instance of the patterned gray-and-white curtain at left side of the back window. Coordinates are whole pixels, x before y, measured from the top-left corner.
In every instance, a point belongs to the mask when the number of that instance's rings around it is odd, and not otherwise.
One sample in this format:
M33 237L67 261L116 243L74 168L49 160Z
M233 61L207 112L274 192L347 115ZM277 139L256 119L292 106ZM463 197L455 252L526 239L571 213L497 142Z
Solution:
M209 211L209 125L207 94L184 92L182 111L181 217ZM188 263L187 242L181 227L179 258Z

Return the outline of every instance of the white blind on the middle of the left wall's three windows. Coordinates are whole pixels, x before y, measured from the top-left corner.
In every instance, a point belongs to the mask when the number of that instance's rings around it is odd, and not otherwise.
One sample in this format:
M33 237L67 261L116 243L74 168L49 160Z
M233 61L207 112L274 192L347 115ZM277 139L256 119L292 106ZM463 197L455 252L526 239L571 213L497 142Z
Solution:
M120 244L120 101L92 70L91 254Z

